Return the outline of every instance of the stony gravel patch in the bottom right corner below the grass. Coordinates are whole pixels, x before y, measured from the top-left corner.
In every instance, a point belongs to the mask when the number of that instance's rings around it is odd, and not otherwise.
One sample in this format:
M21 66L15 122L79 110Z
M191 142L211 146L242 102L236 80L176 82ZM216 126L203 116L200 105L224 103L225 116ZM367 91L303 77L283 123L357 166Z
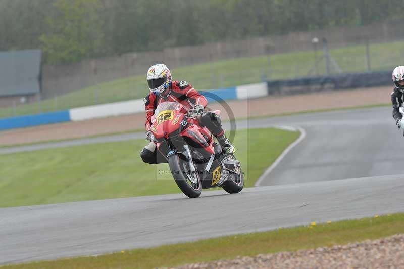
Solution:
M178 268L404 268L404 235L327 248L193 263Z

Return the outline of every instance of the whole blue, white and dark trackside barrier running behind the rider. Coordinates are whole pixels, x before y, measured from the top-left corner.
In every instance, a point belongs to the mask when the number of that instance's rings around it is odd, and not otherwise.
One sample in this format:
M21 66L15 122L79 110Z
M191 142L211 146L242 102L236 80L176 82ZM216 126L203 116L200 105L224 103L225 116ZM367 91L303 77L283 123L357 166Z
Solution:
M355 87L369 87L391 85L390 72L349 73L330 76L303 77L288 80L275 80L264 83L241 85L210 91L222 100L260 98L274 94L297 94L322 91L323 89L345 89ZM210 94L210 96L211 96ZM209 102L216 102L207 97ZM22 128L42 124L64 121L80 121L86 119L103 118L144 112L142 99L125 102L79 107L69 111L49 112L0 119L0 130Z

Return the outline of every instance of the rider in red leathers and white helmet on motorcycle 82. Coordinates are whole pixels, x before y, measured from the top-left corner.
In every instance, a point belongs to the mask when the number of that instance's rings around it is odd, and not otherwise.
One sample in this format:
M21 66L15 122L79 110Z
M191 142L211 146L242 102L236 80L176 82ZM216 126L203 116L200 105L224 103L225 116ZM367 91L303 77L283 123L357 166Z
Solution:
M140 152L143 162L150 164L166 162L163 156L158 158L160 153L156 151L156 143L151 141L150 127L151 116L154 115L157 106L167 101L178 102L184 106L188 115L198 116L200 125L212 132L227 154L235 152L234 146L226 138L220 117L214 112L204 111L208 101L191 84L185 80L172 80L171 72L164 64L151 66L147 70L146 79L150 93L143 101L146 110L146 139L150 142Z

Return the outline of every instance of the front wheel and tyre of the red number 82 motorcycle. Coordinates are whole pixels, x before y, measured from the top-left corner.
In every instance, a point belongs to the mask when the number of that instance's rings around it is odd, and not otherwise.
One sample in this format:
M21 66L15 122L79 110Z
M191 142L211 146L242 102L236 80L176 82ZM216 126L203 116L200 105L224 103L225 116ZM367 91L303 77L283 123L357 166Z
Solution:
M199 197L202 192L199 174L187 173L190 170L188 161L181 155L175 154L168 158L168 164L180 190L189 198Z

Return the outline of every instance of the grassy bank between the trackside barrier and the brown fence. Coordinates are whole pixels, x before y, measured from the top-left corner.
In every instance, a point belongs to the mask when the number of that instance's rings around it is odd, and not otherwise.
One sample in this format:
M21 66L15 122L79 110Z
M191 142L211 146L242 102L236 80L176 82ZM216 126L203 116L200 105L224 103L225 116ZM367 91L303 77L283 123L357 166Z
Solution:
M392 70L396 66L397 55L389 52L401 51L404 41L371 44L369 47L372 70ZM343 72L366 72L366 47L351 46L331 49L330 54ZM174 79L185 79L196 89L213 89L267 79L306 76L314 67L312 51L275 54L270 56L243 57L181 68L173 68ZM320 74L325 73L325 62L319 64ZM145 71L146 72L146 71ZM0 118L47 111L64 110L143 98L148 92L144 76L133 76L100 83L78 89L67 95L37 103L0 109Z

